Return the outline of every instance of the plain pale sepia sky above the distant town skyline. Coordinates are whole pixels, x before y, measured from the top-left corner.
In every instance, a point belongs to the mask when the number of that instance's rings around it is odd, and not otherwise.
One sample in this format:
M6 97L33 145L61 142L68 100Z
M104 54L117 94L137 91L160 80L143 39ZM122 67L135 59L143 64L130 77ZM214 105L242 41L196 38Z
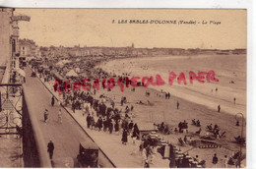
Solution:
M246 48L246 10L16 9L15 15L21 14L30 16L31 22L19 23L20 38L33 39L41 46L118 47L134 43L148 48ZM197 24L117 24L118 20Z

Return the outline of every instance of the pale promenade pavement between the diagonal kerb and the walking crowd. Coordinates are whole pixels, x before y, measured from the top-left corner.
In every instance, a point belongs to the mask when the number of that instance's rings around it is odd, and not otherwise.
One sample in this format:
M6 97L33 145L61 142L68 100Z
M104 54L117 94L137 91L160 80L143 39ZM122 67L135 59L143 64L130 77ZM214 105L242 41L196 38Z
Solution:
M41 79L41 83L43 80ZM59 95L53 90L53 82L43 83L57 98ZM130 137L128 137L128 143L126 145L121 143L121 134L115 133L109 134L108 132L96 131L87 128L86 115L83 116L82 111L76 110L76 113L66 107L76 121L84 128L84 130L96 141L96 144L105 152L105 154L111 159L111 161L118 168L142 168L142 156L139 151L140 141L132 143ZM162 159L159 152L156 153L154 163L151 164L151 168L168 168L169 161Z

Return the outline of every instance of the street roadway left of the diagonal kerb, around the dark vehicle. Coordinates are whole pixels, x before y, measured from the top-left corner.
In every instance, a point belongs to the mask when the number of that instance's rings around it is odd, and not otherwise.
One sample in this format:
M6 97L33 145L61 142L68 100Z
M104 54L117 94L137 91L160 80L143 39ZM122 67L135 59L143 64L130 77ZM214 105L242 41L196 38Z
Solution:
M25 87L28 89L26 100L28 104L31 104L32 108L30 113L32 113L38 123L38 126L43 135L43 139L47 143L49 140L54 142L54 154L53 161L59 161L60 159L71 157L75 161L79 152L79 143L81 141L91 141L86 133L79 127L77 122L65 112L65 110L58 106L51 106L51 93L47 88L41 84L37 78L32 78L32 71L29 68L25 69L27 82ZM47 124L43 121L43 112L48 109L49 111L49 122ZM58 122L58 110L61 109L62 121L60 124ZM108 159L99 151L99 165L103 167L112 168L113 166L109 163ZM66 167L64 162L58 167Z

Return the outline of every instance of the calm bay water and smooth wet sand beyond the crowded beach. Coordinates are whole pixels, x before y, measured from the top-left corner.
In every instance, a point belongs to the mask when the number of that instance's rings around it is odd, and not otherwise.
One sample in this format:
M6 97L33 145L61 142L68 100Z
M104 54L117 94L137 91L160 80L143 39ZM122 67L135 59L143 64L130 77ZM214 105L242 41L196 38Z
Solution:
M133 76L156 76L159 74L166 84L149 86L168 91L171 95L217 110L221 105L222 112L229 114L243 113L246 116L246 56L245 55L199 55L199 56L163 56L119 59L102 63L101 67L108 73ZM220 82L200 84L194 81L189 84L189 71L215 71ZM187 84L171 86L167 83L168 73L177 76L183 72ZM233 82L231 84L230 82ZM218 91L216 91L218 88ZM235 104L233 98L235 97Z

